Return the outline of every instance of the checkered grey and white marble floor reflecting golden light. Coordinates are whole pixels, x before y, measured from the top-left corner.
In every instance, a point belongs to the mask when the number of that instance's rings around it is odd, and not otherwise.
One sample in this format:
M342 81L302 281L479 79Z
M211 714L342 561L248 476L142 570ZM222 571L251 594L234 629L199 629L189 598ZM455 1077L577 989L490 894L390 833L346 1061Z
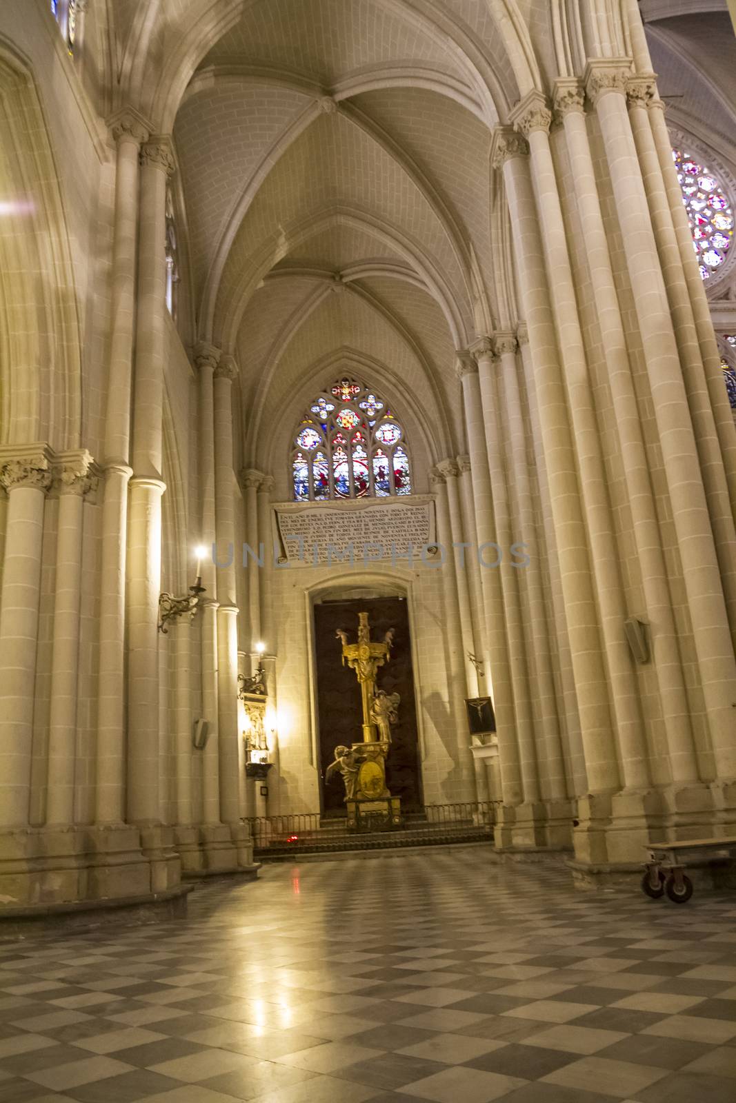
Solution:
M0 944L0 1103L734 1103L736 895L482 848L268 866Z

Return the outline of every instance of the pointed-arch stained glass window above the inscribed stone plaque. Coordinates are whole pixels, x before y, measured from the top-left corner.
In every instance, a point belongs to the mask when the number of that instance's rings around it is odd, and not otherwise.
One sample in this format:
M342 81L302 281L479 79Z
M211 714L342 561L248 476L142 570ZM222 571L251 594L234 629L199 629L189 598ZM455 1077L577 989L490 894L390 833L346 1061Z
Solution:
M404 428L374 390L343 376L305 411L291 476L297 502L410 494Z

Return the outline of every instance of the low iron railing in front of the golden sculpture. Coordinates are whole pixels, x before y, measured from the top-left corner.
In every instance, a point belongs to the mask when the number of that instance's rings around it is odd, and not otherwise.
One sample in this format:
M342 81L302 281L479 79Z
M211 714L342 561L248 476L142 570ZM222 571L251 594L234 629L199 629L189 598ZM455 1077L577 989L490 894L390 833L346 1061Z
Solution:
M402 826L393 831L349 831L344 818L328 818L320 812L254 816L248 824L259 857L436 846L492 839L498 803L427 804L420 812L407 814Z

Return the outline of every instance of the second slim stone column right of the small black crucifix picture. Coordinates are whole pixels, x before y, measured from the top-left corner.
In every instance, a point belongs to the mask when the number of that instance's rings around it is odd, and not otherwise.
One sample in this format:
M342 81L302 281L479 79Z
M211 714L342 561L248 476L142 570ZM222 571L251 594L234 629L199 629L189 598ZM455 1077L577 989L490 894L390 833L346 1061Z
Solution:
M540 799L540 780L536 748L534 746L534 720L532 717L532 702L526 670L526 649L519 595L519 572L518 568L511 565L511 545L513 544L511 535L511 510L501 454L499 411L495 394L495 368L498 360L494 355L490 338L481 338L472 345L470 351L478 363L478 379L480 383L480 398L486 430L486 453L488 456L493 503L493 532L494 540L499 547L497 553L499 564L495 568L495 574L499 576L501 599L503 602L524 803L536 804Z

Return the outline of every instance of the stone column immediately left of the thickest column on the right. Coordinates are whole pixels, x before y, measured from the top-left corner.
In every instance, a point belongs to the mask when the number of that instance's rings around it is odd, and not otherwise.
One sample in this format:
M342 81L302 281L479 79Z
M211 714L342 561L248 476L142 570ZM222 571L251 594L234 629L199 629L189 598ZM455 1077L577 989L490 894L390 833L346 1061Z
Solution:
M600 326L607 377L619 438L633 537L641 566L641 585L652 638L662 719L672 780L697 781L697 763L690 708L670 600L666 565L652 493L643 432L631 376L629 354L604 226L584 114L583 87L577 79L558 81L555 108L563 119L570 159L582 239Z

